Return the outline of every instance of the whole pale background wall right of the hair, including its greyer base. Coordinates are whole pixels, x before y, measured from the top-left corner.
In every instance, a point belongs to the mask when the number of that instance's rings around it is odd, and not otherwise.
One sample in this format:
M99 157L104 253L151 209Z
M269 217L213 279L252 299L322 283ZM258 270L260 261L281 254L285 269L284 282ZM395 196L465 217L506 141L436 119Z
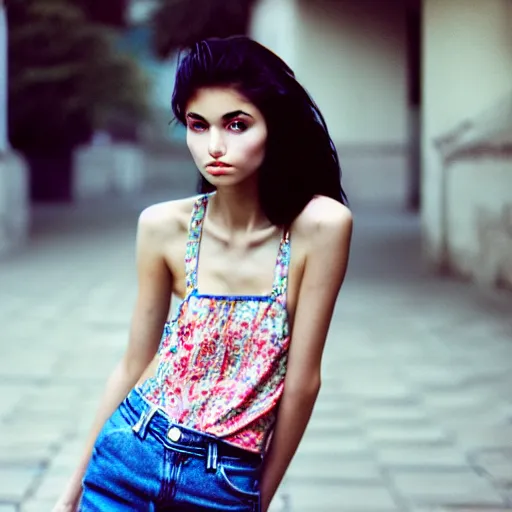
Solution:
M407 193L402 0L260 0L252 36L283 57L320 107L353 202Z

